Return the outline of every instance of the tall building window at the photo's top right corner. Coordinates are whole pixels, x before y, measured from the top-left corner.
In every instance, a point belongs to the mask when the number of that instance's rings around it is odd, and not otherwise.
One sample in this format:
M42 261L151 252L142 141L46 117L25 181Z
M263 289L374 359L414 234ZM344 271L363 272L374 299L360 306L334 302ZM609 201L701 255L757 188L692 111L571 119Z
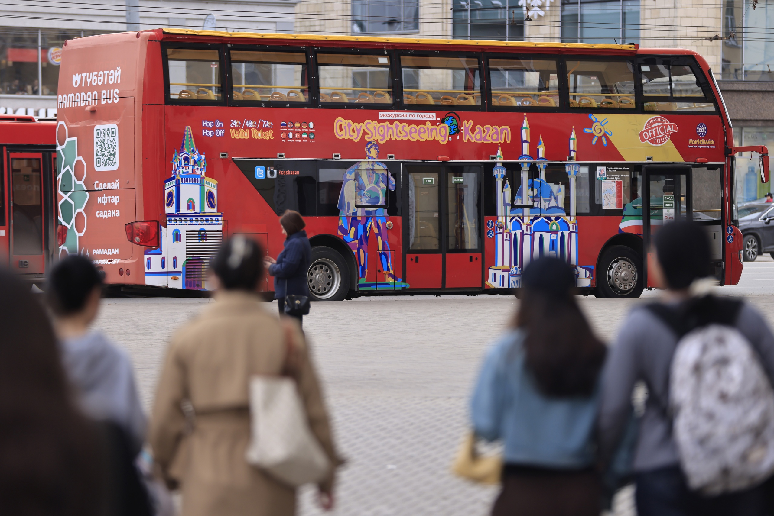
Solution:
M774 80L774 0L724 0L724 80Z

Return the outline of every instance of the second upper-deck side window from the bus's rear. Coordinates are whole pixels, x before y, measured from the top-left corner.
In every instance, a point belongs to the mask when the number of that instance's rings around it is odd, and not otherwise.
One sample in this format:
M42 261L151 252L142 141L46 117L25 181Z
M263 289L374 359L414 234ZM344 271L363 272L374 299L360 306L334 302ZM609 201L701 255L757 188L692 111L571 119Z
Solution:
M231 50L235 101L309 102L307 54Z

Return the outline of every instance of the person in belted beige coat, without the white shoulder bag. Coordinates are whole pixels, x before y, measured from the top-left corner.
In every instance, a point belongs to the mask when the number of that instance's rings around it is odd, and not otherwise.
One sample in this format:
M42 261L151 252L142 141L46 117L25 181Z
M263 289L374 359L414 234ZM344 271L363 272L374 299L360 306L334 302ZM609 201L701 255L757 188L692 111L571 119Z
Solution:
M183 516L296 513L295 488L245 460L248 384L255 374L296 378L313 434L331 463L341 463L300 326L277 320L259 297L262 258L262 249L248 238L224 243L211 264L218 285L214 302L177 331L167 351L149 443L166 483L182 491ZM333 506L334 473L335 466L318 486L325 509Z

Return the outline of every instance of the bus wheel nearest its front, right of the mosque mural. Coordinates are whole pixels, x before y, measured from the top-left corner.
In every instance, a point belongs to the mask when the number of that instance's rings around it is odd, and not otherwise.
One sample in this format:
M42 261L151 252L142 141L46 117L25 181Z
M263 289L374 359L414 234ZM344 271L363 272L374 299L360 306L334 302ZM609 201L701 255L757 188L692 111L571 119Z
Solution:
M597 297L639 297L642 294L642 258L632 248L614 245L599 261Z

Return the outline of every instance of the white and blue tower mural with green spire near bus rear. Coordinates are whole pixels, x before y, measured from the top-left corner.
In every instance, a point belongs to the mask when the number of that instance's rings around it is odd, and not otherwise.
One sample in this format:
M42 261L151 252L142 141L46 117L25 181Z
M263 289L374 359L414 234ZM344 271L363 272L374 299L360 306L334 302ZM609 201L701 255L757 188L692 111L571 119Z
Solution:
M207 267L223 241L223 214L217 211L217 181L206 173L207 159L186 127L172 174L164 179L161 246L145 251L146 285L208 289Z

